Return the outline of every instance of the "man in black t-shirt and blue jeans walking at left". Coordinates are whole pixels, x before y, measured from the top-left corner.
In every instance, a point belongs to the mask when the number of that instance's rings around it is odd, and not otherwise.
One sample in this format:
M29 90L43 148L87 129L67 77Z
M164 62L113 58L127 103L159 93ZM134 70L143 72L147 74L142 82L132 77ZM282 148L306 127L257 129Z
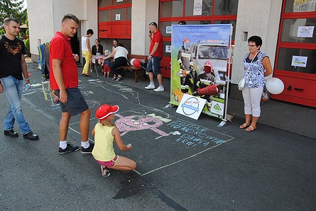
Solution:
M21 106L23 85L30 85L30 80L24 56L26 54L24 42L16 38L20 33L20 23L16 18L5 18L4 29L6 34L0 38L0 93L6 93L10 103L4 119L4 135L18 137L18 133L13 130L16 121L23 133L23 138L35 141L39 139L38 135L31 131Z

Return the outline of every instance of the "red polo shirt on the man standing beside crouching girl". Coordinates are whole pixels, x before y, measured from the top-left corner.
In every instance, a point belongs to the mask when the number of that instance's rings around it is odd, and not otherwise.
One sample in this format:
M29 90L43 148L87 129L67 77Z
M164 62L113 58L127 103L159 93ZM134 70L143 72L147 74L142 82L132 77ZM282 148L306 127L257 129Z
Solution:
M78 86L78 70L72 55L70 38L57 32L50 41L50 89L59 89L54 76L53 59L61 59L62 79L65 89Z

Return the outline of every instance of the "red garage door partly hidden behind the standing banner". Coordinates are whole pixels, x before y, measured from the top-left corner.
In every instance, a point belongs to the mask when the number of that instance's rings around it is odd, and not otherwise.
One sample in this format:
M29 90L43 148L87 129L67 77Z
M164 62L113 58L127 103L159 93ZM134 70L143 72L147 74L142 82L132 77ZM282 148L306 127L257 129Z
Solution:
M187 24L232 23L234 27L232 43L234 43L238 0L203 0L201 15L193 15L193 0L160 0L159 30L163 34L163 59L160 67L163 77L170 78L171 33L167 30L179 21Z

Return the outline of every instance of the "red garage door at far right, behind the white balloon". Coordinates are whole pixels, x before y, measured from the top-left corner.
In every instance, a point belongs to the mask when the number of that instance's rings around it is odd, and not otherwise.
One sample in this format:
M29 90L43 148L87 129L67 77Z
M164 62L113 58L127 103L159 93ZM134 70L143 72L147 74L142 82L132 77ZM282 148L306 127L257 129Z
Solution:
M316 1L283 1L274 76L285 89L271 98L316 107Z

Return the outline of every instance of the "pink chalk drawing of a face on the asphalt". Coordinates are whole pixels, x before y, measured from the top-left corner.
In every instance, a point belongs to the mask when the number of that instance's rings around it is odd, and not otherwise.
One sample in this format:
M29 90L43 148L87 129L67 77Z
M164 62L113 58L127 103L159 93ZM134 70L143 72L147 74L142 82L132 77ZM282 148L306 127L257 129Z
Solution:
M146 115L130 115L124 117L120 114L115 114L119 119L116 120L115 125L122 132L121 136L125 135L126 132L136 130L153 130L160 136L168 136L169 134L159 130L157 127L163 125L163 121L157 118L148 117Z

